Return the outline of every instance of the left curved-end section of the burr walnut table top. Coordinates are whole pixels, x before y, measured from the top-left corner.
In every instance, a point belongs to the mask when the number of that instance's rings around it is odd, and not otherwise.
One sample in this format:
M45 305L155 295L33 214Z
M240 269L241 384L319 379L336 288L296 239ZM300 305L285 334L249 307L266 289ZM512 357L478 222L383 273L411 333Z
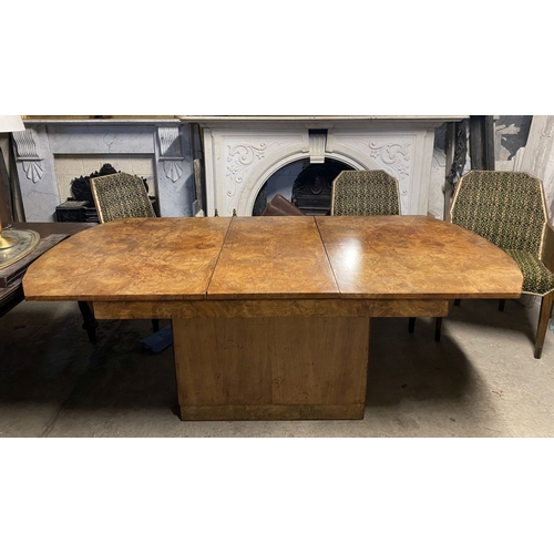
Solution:
M126 218L64 240L31 265L28 300L194 300L206 296L230 218Z

